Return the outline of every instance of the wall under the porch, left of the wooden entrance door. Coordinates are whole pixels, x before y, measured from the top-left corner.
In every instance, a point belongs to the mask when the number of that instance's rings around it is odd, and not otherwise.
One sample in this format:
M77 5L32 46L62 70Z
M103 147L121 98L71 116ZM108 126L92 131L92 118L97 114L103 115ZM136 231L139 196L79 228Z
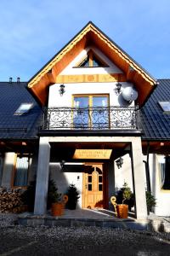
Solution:
M82 208L82 172L75 172L75 169L77 168L74 168L74 166L66 166L62 170L59 163L50 163L49 177L54 180L59 192L62 194L65 194L71 183L75 184L80 192L77 207ZM81 170L81 166L78 169Z

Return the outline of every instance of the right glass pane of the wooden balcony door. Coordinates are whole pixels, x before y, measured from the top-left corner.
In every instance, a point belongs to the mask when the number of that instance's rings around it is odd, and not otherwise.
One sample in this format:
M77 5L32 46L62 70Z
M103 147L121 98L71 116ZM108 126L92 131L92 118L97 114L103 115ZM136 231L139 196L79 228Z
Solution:
M109 128L109 105L107 96L93 96L92 127Z

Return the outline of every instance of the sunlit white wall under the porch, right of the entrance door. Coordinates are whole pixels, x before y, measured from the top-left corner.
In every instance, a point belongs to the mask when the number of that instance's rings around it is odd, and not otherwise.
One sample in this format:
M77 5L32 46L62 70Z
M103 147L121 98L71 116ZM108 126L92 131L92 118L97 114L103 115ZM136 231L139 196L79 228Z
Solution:
M131 158L129 154L125 154L122 157L123 164L120 169L116 166L115 161L115 183L116 190L122 188L124 182L128 184L128 187L133 191L133 177L132 177L132 167L131 167Z

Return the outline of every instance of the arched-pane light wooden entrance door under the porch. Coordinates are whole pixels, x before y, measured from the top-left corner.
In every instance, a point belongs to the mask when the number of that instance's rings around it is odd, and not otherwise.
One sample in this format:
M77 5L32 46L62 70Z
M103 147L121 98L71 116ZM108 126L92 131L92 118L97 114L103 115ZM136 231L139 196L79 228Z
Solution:
M103 165L92 164L85 166L83 174L83 207L104 207Z

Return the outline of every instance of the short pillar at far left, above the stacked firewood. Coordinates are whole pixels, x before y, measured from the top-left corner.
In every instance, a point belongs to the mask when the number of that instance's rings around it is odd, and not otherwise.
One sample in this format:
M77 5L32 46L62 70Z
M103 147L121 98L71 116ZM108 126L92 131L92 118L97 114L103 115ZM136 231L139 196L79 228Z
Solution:
M7 152L5 154L4 164L3 164L3 177L2 177L2 187L10 189L13 185L14 179L14 162L16 160L16 154L14 152Z

